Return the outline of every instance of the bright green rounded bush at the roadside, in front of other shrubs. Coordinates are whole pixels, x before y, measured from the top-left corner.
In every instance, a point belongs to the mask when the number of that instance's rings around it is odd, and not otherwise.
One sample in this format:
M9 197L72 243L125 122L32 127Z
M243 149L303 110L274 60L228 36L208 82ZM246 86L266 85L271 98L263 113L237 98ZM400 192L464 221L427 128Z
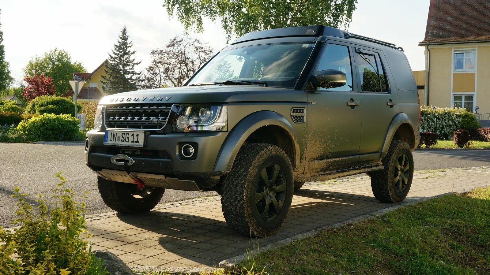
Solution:
M78 123L71 115L44 114L21 121L17 130L29 141L76 140Z

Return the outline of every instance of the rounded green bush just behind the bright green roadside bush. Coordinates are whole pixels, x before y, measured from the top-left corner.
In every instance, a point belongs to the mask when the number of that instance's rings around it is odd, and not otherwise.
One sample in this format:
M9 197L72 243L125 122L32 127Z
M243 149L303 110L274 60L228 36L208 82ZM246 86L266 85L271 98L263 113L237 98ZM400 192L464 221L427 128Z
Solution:
M75 114L75 104L68 98L61 96L41 95L32 99L25 108L27 114L55 114L73 115ZM82 106L78 104L78 113Z

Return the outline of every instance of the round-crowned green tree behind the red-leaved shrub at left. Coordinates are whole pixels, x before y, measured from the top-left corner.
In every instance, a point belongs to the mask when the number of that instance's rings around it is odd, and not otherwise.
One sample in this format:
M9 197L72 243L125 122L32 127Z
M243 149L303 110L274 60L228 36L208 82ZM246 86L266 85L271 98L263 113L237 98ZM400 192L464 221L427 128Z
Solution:
M72 57L68 52L58 48L45 52L43 56L36 56L24 68L25 76L33 77L36 74L44 74L52 78L56 86L56 95L62 95L72 89L69 81L73 80L73 72L86 71L80 62L72 62Z

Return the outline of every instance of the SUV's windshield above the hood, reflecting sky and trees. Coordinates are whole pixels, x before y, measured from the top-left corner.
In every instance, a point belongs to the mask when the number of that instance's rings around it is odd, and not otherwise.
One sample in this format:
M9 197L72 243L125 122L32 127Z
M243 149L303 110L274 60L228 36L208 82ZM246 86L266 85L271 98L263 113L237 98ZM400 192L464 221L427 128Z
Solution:
M187 85L236 80L262 81L267 86L293 88L314 45L270 44L225 50L206 64Z

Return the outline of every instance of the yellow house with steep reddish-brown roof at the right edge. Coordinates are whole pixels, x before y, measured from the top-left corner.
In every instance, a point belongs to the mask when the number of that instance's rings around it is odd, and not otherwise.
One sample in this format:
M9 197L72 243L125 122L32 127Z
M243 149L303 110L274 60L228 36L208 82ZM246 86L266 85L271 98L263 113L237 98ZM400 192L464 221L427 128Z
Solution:
M489 19L488 0L430 1L421 102L490 113Z

